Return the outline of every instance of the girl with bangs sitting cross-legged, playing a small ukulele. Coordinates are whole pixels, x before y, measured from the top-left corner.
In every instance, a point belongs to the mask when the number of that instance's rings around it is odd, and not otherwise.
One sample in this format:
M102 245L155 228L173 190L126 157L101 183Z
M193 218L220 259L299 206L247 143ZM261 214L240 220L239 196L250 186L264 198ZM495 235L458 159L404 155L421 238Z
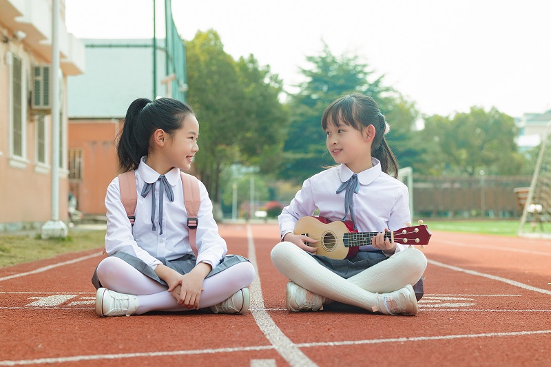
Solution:
M386 143L390 130L373 98L349 94L322 115L326 146L338 164L304 181L279 216L282 242L271 251L275 268L289 278L287 310L318 311L342 304L384 315L416 315L413 290L426 268L417 249L391 242L384 232L410 222L406 185ZM359 232L375 232L353 258L316 254L317 242L294 234L295 224L319 210L324 222L350 219ZM340 306L339 306L340 305Z

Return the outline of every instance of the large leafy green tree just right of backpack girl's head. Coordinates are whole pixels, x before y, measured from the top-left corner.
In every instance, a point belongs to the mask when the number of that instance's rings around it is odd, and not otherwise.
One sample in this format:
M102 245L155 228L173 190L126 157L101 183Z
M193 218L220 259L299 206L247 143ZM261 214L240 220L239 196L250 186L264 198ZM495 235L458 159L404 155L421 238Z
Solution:
M245 160L260 165L262 157L275 162L281 156L287 124L287 112L278 101L281 81L253 55L233 60L214 30L197 32L186 49L187 99L200 125L195 166L219 204L226 167Z

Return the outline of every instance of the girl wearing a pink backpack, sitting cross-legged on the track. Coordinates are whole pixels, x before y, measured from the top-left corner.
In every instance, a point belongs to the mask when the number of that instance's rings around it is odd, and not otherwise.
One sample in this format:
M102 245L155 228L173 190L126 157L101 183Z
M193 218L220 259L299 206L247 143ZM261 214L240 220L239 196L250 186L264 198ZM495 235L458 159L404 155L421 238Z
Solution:
M98 316L199 308L247 312L254 267L227 255L205 185L198 181L196 191L186 191L184 180L195 179L180 174L191 167L198 136L198 120L186 103L138 98L128 107L117 146L125 173L114 178L105 197L108 256L92 277ZM126 202L132 191L134 215ZM189 201L198 207L196 216L188 215Z

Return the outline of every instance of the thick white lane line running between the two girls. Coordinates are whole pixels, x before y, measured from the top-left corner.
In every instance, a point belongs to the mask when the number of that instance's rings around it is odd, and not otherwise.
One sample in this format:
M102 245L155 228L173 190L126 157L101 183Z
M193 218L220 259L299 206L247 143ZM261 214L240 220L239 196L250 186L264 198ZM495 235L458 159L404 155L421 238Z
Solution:
M248 258L256 270L256 277L249 287L251 290L251 313L253 314L256 324L258 324L264 336L267 337L269 342L275 347L275 350L278 350L278 353L280 353L291 366L317 366L317 364L302 353L302 350L300 350L296 344L291 342L291 339L275 325L273 319L266 312L264 300L262 299L262 287L260 286L256 250L254 248L253 233L250 225L247 225L247 240L249 243Z

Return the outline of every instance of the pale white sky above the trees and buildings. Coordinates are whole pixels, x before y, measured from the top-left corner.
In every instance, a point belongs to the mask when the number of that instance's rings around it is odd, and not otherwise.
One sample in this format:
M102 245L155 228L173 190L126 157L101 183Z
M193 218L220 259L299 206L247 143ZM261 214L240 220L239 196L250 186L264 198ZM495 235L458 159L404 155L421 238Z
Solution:
M162 19L164 1L156 3ZM149 38L152 4L65 0L67 30L79 38ZM226 52L254 54L290 92L323 39L335 54L360 55L425 114L471 105L511 116L551 109L551 1L173 0L172 8L184 39L214 28ZM164 25L157 30L163 37Z

